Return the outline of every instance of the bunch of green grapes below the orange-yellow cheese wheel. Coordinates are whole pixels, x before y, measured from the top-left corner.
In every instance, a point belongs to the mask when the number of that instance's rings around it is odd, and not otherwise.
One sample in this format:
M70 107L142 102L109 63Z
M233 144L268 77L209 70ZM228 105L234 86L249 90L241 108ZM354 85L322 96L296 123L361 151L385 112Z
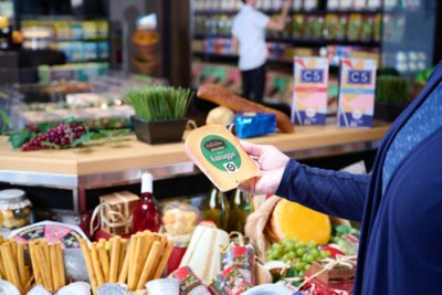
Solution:
M290 263L292 276L304 276L313 261L329 256L328 251L320 251L314 243L304 244L296 238L286 239L282 243L275 243L266 252L270 261L284 261Z

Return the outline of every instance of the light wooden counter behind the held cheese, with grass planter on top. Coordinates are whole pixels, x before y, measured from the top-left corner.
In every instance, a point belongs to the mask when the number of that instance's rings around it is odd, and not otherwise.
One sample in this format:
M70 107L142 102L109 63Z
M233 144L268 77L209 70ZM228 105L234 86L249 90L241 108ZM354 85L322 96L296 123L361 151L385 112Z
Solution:
M292 158L340 155L378 147L387 124L372 128L297 126L295 134L275 134L250 141L274 145ZM155 179L196 173L182 143L150 146L134 136L120 143L92 143L82 148L21 152L0 137L0 181L72 189L74 211L85 210L85 190L140 181L141 171Z

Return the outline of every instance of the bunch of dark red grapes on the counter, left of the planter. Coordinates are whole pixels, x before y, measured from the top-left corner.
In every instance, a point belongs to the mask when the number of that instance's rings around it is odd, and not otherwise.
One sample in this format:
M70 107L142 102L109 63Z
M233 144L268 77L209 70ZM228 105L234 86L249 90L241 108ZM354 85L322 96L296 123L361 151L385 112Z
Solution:
M85 127L77 122L60 123L56 127L48 129L45 133L38 134L30 141L25 143L22 151L40 150L53 148L52 145L70 147L71 144L82 137L86 133ZM42 145L42 143L50 143L52 145Z

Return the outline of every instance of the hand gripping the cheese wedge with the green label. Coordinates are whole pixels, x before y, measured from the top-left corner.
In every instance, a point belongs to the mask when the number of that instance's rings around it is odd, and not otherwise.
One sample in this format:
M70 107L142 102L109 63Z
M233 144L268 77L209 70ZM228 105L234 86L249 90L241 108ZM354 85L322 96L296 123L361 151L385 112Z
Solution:
M256 159L260 175L240 185L240 190L251 194L273 194L283 178L290 158L274 146L254 145L240 141L252 158Z

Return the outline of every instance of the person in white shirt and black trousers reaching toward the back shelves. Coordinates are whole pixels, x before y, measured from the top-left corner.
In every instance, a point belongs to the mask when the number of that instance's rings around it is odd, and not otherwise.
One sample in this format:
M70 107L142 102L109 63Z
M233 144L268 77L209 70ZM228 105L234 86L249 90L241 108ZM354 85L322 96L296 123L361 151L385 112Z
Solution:
M256 0L242 1L244 6L233 20L232 46L235 52L239 48L242 96L262 102L265 89L265 61L269 55L265 44L265 30L284 30L291 1L284 1L277 20L273 20L259 11Z

